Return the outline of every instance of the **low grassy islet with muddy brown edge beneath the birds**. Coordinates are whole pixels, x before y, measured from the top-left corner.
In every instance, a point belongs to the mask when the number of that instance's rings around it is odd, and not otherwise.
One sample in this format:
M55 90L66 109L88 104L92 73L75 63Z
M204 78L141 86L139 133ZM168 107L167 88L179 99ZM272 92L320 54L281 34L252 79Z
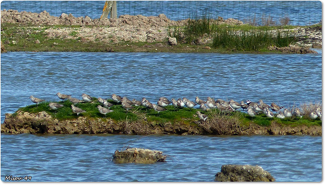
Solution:
M242 111L222 112L210 109L208 119L200 120L200 109L175 109L172 105L159 114L144 106L126 110L112 100L113 112L101 114L96 98L90 103L78 103L86 112L73 113L70 101L56 102L63 107L51 110L50 102L19 108L6 113L2 133L20 134L179 134L179 135L314 135L321 136L321 120L309 116L279 119L261 113L250 117Z

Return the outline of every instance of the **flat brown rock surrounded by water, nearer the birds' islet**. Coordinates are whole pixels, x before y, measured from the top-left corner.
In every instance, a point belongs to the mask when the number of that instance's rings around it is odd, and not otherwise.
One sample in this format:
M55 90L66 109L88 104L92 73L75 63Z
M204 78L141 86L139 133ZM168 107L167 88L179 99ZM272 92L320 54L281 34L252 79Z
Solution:
M127 148L126 150L116 150L113 155L115 163L155 163L165 162L166 155L162 151L149 150L143 148Z

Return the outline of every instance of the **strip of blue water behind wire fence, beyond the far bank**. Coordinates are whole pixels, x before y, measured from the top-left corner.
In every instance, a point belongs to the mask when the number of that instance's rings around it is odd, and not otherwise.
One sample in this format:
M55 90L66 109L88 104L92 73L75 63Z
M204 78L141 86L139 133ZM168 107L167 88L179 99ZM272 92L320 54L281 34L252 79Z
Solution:
M100 18L105 1L3 1L1 10L18 10L40 13L44 10L53 16L62 13L75 17ZM263 24L268 19L281 24L287 19L290 25L311 25L321 21L320 1L117 1L117 16L165 14L171 20L193 16L223 19L234 18L248 23Z

